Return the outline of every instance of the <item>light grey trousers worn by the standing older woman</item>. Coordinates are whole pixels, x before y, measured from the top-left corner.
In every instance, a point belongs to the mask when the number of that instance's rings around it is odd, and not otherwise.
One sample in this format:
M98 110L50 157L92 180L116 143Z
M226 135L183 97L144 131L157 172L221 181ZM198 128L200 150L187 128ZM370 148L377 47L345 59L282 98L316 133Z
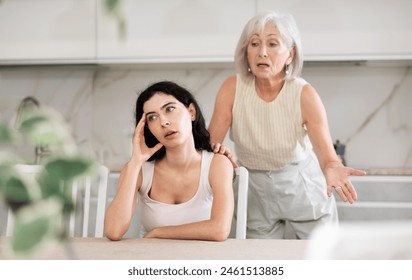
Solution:
M237 201L237 182L234 191ZM246 237L308 239L317 225L337 224L335 198L328 197L326 191L326 180L314 154L277 171L249 170ZM236 216L231 236L234 225Z

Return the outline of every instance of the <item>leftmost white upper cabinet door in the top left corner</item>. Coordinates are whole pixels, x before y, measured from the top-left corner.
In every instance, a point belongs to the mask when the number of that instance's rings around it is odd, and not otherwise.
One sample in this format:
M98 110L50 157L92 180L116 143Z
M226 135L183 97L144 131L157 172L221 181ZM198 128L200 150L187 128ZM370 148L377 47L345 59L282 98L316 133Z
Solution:
M0 2L0 63L95 58L95 0Z

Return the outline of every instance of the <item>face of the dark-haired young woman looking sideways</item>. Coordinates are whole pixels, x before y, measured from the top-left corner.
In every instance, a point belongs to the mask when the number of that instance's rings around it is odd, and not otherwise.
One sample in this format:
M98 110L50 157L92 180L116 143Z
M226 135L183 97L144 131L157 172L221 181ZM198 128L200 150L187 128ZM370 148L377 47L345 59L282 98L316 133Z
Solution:
M150 132L165 147L176 146L193 139L192 121L195 108L185 107L172 95L156 93L143 105Z

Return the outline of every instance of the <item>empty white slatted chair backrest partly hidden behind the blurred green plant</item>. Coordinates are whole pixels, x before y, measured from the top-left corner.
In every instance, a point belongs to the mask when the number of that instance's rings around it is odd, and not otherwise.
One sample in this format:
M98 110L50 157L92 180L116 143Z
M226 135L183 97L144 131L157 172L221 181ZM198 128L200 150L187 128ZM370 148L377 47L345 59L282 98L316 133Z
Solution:
M18 165L17 167L31 178L34 178L35 174L41 170L39 165ZM108 177L108 168L99 166L94 176L75 180L70 185L64 183L65 187L70 188L75 205L75 211L71 213L68 221L65 221L68 224L70 237L103 237ZM13 224L13 214L9 210L6 233L8 236L12 234ZM90 225L94 225L94 230Z

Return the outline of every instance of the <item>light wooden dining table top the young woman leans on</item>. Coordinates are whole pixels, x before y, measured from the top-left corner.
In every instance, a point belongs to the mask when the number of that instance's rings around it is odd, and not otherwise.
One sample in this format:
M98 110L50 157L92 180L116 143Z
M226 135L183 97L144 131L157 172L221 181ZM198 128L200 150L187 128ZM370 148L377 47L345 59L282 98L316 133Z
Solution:
M6 237L0 237L0 259ZM223 242L156 238L126 238L119 241L74 237L44 250L40 259L78 260L303 260L308 240L227 239ZM7 250L6 250L7 251Z

